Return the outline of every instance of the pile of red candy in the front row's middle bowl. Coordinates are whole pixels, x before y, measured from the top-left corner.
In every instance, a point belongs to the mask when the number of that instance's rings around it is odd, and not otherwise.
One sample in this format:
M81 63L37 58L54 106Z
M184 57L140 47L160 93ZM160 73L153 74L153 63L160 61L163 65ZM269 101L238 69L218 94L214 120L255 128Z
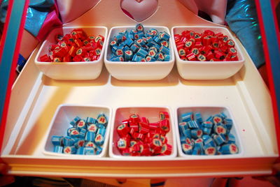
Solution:
M149 123L146 117L130 115L117 127L120 138L116 142L123 156L165 156L172 153L172 145L167 144L169 114L160 112L160 121Z

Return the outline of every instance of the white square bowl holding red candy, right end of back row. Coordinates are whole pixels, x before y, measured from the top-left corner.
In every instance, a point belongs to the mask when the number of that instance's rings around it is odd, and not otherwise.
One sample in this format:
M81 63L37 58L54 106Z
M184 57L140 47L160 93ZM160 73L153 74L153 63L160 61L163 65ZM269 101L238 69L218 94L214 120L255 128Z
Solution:
M214 33L223 33L229 39L235 42L238 61L183 61L179 57L175 34L181 34L182 31L192 30L197 33L203 33L205 30L214 31ZM244 56L240 47L230 31L225 27L207 27L207 26L181 26L172 27L172 43L174 45L176 66L179 74L186 80L223 80L235 75L244 64Z

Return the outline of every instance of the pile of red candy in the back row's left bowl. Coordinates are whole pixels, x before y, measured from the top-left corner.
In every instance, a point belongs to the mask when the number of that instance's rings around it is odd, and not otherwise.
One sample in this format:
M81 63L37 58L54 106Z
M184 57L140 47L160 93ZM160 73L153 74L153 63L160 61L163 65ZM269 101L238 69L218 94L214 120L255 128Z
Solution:
M104 36L87 36L83 29L73 29L65 36L55 36L57 44L49 46L49 53L40 57L40 61L71 62L96 61L102 52Z

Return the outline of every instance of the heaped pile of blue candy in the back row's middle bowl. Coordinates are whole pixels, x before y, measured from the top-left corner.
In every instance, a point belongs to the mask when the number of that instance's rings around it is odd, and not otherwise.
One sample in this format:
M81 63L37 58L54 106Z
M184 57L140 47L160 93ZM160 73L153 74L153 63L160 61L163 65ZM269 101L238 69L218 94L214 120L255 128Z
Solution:
M170 61L170 35L151 29L145 33L142 24L125 30L110 41L113 52L110 61Z

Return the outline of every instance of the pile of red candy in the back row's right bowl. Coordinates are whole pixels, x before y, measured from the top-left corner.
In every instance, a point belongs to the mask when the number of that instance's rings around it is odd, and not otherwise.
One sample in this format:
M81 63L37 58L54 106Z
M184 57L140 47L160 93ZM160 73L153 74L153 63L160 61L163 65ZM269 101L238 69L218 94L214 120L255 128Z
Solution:
M174 40L183 61L238 61L235 42L223 33L183 31Z

